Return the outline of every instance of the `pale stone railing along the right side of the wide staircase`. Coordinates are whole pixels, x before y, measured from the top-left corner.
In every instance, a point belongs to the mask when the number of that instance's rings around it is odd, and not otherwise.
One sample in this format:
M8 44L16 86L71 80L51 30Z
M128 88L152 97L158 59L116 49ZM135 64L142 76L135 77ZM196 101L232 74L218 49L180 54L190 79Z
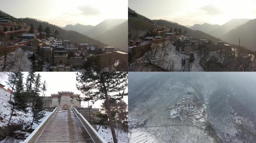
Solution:
M100 134L92 127L92 125L83 117L83 115L76 110L76 108L74 108L74 113L80 119L95 143L107 143L106 140L104 140L103 137L101 137Z

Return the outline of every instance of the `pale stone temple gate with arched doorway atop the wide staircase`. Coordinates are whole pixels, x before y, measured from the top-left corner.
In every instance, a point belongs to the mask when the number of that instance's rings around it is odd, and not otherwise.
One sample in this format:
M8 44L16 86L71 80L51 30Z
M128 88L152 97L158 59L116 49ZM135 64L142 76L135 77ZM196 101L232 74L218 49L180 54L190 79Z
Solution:
M77 101L80 94L73 92L58 92L51 94L50 97L43 97L43 107L58 107L58 110L68 110L75 107L81 107L81 102Z

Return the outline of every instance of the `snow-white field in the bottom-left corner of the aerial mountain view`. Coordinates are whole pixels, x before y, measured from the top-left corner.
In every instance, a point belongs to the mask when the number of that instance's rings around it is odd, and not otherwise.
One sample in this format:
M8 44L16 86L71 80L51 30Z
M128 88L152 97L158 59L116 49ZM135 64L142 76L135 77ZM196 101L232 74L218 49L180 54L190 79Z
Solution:
M158 143L151 134L135 129L129 132L129 141L130 143Z

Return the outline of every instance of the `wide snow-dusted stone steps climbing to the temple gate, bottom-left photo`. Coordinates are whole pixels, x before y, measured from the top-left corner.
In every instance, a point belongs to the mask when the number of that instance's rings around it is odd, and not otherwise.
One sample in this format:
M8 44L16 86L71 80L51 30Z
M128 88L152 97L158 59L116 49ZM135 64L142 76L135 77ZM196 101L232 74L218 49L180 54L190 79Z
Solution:
M36 143L94 143L73 111L58 110Z

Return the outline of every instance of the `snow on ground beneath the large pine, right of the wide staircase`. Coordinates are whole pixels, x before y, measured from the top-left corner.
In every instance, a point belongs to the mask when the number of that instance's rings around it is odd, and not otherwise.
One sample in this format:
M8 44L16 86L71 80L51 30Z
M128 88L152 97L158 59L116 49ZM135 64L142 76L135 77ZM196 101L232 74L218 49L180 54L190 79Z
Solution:
M97 128L98 127L100 127L100 126L97 125ZM115 132L117 134L116 128L115 128ZM113 137L112 137L111 129L109 127L107 129L105 129L104 127L101 126L98 133L107 142L113 143ZM122 131L122 133L121 133L121 130L118 130L118 143L128 143L128 133L127 132Z

